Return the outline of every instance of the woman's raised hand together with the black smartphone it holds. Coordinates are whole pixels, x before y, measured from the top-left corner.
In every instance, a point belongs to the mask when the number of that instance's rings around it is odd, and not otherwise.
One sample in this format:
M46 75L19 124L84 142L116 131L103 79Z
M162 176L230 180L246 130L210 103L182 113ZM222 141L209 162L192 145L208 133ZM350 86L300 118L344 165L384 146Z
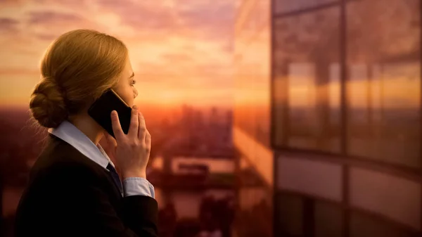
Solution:
M151 134L138 108L130 108L110 89L91 105L88 114L106 130L107 143L123 179L146 178Z

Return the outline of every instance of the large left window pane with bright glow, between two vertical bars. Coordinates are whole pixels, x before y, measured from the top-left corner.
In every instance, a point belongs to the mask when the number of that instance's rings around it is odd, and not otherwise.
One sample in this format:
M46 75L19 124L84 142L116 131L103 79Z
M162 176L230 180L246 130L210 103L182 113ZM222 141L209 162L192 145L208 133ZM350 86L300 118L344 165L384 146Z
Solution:
M339 13L335 6L275 20L278 145L340 150Z

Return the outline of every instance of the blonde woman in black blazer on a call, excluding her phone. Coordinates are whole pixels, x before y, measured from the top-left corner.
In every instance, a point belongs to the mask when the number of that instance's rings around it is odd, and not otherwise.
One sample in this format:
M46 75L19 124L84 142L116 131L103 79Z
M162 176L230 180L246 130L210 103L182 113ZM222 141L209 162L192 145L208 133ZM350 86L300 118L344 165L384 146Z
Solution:
M137 91L122 41L93 30L58 37L41 61L30 109L49 128L16 214L16 236L157 236L158 205L146 180L151 135L134 105ZM115 138L89 115L113 89L132 109L128 134L110 115ZM116 166L98 142L106 136Z

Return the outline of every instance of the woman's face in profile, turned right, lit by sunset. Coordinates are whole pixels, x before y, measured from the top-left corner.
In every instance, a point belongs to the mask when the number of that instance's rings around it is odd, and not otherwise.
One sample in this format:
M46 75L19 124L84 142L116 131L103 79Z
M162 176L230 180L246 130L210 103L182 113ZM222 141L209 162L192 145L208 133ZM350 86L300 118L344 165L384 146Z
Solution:
M129 58L127 59L126 66L119 79L119 84L115 87L115 92L127 103L130 107L134 105L134 98L138 96L138 91L135 89L134 71Z

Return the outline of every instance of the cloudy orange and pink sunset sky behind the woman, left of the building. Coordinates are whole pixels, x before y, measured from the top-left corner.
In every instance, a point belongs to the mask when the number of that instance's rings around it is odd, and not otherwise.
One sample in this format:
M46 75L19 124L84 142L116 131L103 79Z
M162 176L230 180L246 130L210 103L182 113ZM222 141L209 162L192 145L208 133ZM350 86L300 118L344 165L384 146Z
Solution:
M138 102L231 105L236 2L1 0L0 105L27 105L42 53L77 28L127 44Z

